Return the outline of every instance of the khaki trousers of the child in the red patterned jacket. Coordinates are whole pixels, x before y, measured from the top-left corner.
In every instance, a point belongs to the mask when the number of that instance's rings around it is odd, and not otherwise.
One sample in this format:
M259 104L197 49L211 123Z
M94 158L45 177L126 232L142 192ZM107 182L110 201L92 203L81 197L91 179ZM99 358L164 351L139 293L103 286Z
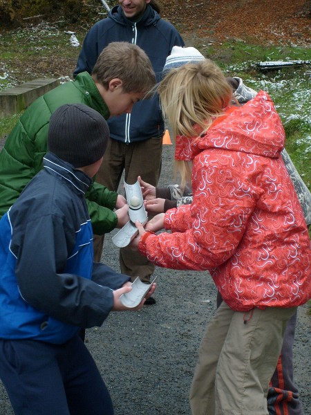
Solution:
M241 313L223 302L200 344L191 413L268 415L269 382L295 311L296 307L267 307Z

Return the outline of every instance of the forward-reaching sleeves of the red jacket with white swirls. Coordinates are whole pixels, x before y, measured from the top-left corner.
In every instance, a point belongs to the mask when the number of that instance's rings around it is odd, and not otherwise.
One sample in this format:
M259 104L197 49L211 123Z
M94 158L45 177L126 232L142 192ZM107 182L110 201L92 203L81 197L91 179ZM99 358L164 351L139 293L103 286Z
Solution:
M225 168L227 158L205 164L206 154L194 164L194 201L165 214L164 225L172 233L147 234L140 239L142 255L158 266L173 269L206 270L223 264L234 254L256 194L249 178L239 169ZM225 161L224 161L225 160Z

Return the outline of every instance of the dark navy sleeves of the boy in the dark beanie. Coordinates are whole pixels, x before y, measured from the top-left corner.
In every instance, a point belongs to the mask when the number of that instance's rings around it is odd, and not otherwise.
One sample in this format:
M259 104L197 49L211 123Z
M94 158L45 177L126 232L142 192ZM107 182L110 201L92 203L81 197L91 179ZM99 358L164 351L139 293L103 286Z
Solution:
M19 291L32 307L61 322L84 328L100 326L113 307L112 289L120 288L128 278L115 273L112 282L113 271L103 268L101 281L107 279L109 285L101 286L91 279L59 272L66 264L70 240L75 240L75 232L70 235L65 229L58 216L46 215L29 221L23 236L17 231L13 234Z

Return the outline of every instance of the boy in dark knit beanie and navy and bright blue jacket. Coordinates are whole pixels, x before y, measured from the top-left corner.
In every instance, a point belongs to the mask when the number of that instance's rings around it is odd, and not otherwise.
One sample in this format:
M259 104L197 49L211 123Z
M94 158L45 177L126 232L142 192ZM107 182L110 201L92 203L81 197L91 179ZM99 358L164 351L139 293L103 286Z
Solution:
M108 138L94 109L59 107L44 169L0 221L0 378L17 415L113 414L77 335L126 310L120 295L131 291L130 277L93 262L85 194Z

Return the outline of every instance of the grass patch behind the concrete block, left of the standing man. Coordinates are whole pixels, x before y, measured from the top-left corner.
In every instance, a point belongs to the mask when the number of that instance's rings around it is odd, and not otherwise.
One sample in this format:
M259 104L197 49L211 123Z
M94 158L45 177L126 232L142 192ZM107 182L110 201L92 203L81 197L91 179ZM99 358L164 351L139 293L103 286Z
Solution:
M75 28L48 24L18 28L0 34L0 90L37 77L72 77L80 47L70 44ZM79 28L82 45L86 30Z

